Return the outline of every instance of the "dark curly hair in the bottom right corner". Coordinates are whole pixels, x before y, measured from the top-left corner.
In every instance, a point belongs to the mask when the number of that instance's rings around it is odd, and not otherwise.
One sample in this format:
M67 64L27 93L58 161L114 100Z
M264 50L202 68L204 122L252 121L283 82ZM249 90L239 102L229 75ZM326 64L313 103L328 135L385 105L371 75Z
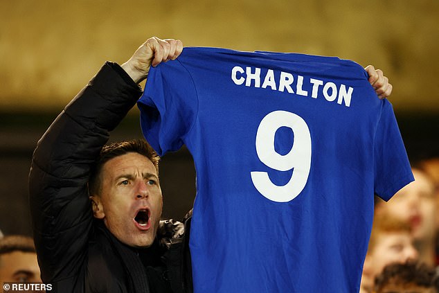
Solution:
M375 291L381 292L386 285L417 285L439 291L439 278L436 269L424 263L409 260L406 263L393 263L384 267L375 278Z

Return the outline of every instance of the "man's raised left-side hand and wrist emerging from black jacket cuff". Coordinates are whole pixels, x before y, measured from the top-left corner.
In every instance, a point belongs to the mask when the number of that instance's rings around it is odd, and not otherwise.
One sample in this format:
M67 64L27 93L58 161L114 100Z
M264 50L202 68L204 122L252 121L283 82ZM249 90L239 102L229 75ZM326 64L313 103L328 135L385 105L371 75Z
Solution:
M181 51L183 51L183 43L179 39L151 37L138 47L127 62L122 64L122 68L134 82L138 83L147 77L151 66L155 67L160 62L175 60Z

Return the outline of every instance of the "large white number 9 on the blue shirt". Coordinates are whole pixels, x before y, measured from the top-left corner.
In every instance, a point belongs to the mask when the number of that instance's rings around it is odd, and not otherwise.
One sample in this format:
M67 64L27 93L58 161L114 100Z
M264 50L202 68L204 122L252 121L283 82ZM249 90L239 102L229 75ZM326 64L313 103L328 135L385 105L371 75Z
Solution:
M285 155L274 149L274 136L280 127L289 127L294 132L292 149ZM291 179L284 186L274 184L267 172L250 172L253 185L262 195L274 202L289 202L302 192L310 175L311 134L301 116L286 111L267 114L256 133L256 152L260 161L271 169L294 169Z

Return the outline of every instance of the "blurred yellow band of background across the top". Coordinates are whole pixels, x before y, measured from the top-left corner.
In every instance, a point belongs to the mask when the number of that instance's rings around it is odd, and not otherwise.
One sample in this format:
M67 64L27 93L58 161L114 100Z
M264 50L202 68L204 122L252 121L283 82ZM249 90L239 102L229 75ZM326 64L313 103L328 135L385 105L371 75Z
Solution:
M150 36L336 55L383 69L396 109L439 110L439 1L1 1L0 107L58 109Z

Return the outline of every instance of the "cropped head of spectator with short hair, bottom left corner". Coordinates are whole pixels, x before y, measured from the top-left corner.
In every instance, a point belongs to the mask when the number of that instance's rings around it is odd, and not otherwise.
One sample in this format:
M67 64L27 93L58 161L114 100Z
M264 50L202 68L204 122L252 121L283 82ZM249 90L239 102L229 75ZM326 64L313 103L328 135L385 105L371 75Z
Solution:
M0 239L0 282L41 282L32 238L14 235Z

